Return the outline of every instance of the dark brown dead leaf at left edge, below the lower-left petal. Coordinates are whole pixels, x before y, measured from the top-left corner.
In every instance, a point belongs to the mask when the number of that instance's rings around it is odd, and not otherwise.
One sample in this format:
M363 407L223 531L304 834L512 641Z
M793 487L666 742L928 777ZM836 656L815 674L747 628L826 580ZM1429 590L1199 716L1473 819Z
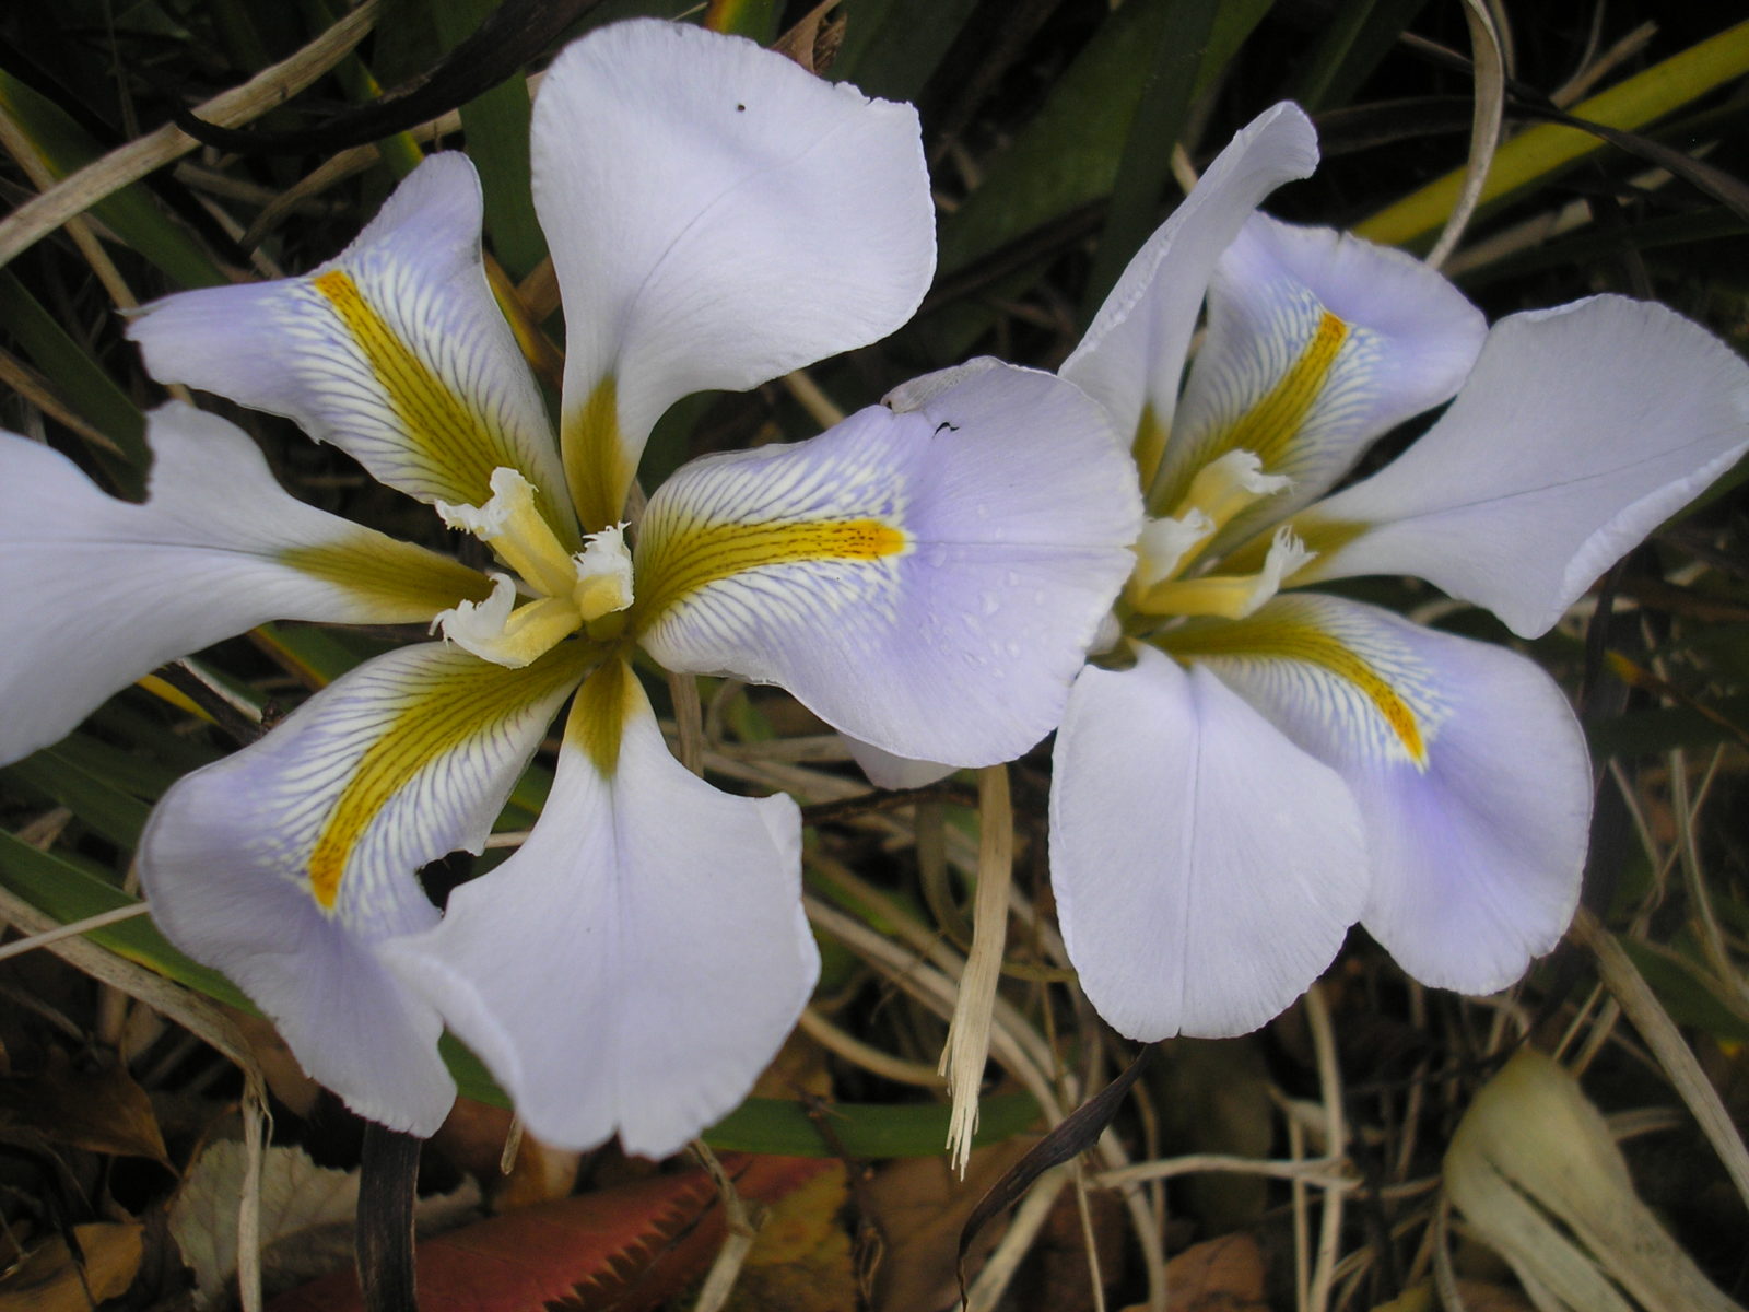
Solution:
M112 1057L79 1069L65 1051L52 1050L37 1074L0 1078L0 1127L91 1153L170 1165L150 1099Z

